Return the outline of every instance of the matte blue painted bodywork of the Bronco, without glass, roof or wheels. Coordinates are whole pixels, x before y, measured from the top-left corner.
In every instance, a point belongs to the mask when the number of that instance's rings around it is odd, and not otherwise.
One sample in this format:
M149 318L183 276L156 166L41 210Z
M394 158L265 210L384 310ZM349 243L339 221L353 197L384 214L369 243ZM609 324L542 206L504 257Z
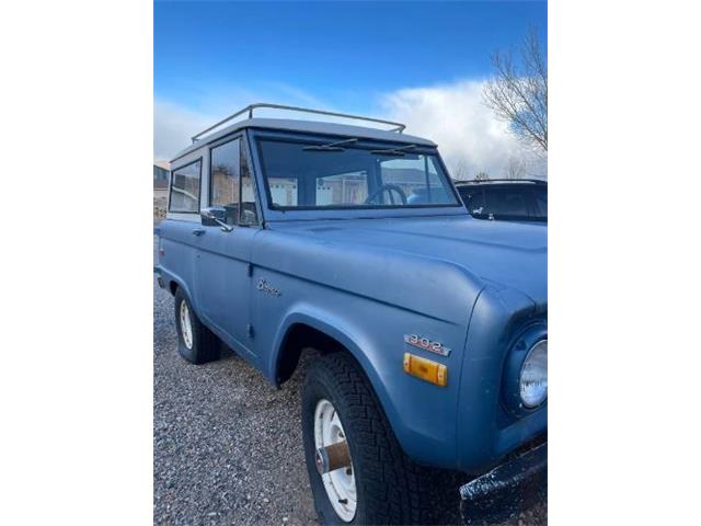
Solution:
M254 144L262 132L245 133ZM208 148L191 156L207 162ZM263 188L255 148L248 155ZM157 270L269 381L286 334L302 323L355 356L418 462L476 472L547 430L547 402L514 412L504 398L524 334L547 336L545 226L478 220L460 206L283 213L258 195L261 226L222 232L197 215L163 221ZM404 334L452 351L412 347ZM445 364L448 385L406 375L405 352Z

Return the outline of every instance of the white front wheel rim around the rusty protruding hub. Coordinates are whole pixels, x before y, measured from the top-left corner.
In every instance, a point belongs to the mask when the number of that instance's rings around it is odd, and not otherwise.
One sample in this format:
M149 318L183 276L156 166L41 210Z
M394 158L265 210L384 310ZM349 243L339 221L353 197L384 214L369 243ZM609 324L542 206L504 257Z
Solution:
M314 410L314 445L321 448L343 441L347 441L347 437L336 409L329 400L319 400ZM322 474L321 480L338 517L345 523L353 521L358 506L353 464L350 468L341 468Z

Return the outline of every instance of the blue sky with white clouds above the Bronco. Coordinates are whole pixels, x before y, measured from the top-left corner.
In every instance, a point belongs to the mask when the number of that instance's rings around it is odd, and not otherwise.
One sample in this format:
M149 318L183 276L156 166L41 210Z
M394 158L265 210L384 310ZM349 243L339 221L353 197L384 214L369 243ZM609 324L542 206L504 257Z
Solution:
M482 89L492 54L517 48L530 26L547 49L547 11L544 1L157 1L154 158L274 102L406 123L462 178L505 175L515 162L541 171Z

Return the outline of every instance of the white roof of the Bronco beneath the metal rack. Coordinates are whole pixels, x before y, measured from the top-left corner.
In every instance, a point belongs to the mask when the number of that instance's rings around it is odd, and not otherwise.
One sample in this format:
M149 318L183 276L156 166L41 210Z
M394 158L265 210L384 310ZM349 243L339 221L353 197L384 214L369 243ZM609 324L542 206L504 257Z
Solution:
M187 153L195 151L203 146L208 145L221 137L225 137L233 132L242 128L266 128L266 129L284 129L289 132L306 132L312 134L322 135L337 135L342 137L360 137L365 139L387 140L392 142L407 142L411 145L424 145L436 146L435 142L416 137L413 135L400 134L398 132L389 132L386 129L368 128L365 126L353 126L349 124L337 123L323 123L317 121L297 121L291 118L248 118L245 121L239 121L222 128L220 132L216 132L211 135L207 135L203 139L198 140L194 145L179 151L171 162L180 159Z

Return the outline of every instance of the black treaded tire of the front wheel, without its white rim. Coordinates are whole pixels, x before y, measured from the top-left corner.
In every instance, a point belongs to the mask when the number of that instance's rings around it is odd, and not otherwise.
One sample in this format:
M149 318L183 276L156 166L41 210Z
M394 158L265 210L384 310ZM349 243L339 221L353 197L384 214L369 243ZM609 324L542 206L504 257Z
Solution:
M334 511L314 462L314 410L321 399L334 405L350 448L358 502L349 523ZM418 466L404 454L369 381L348 354L331 353L310 365L302 388L302 435L322 524L460 523L460 476Z

